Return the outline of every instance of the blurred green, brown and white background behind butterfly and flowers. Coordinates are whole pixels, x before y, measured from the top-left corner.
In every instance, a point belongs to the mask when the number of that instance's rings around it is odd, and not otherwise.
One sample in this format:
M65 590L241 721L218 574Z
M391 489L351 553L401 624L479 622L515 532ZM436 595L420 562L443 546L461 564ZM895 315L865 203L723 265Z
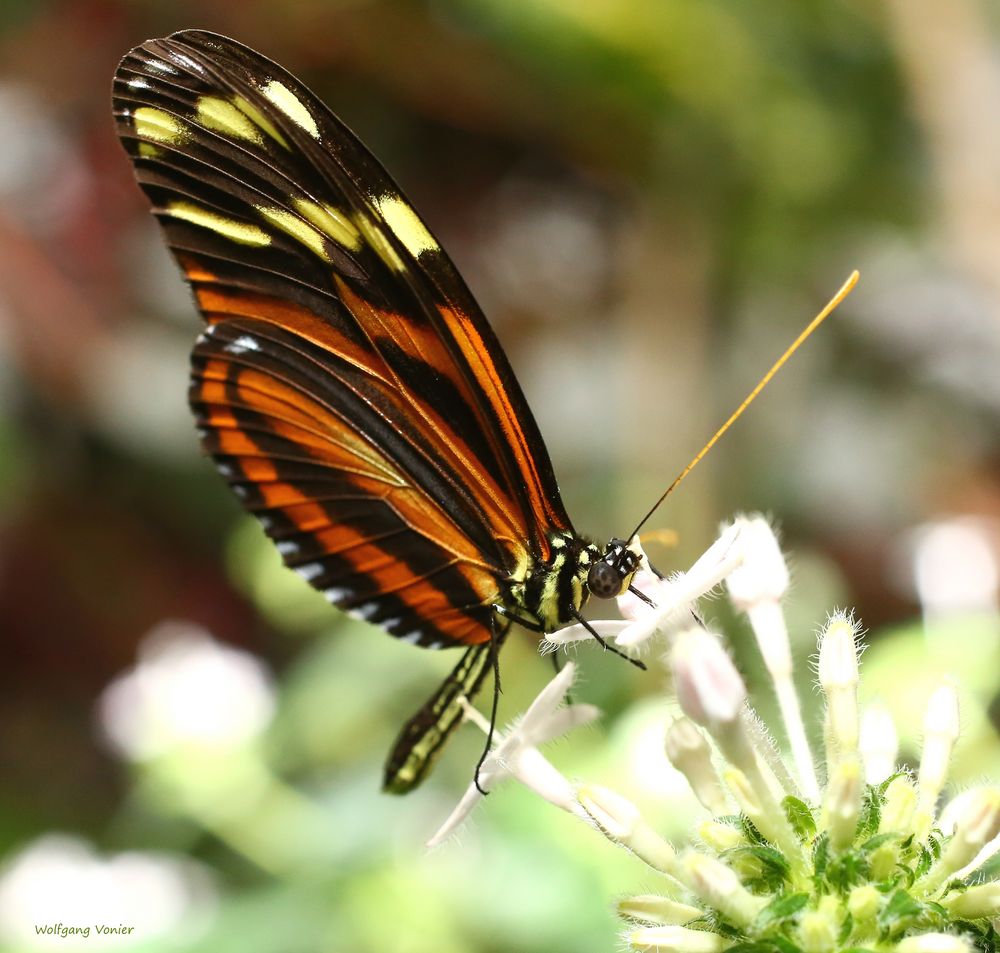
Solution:
M282 571L201 457L198 319L112 128L128 48L226 33L344 118L466 276L601 539L860 269L650 552L684 568L720 520L772 514L800 658L855 607L904 755L934 680L964 679L961 784L1000 770L998 21L988 0L2 0L3 949L597 953L651 877L514 787L424 853L473 729L417 793L379 793L454 659ZM745 627L707 611L752 675ZM553 760L680 836L663 678L578 658L607 716ZM533 637L503 663L506 719L550 669ZM32 929L57 921L136 930Z

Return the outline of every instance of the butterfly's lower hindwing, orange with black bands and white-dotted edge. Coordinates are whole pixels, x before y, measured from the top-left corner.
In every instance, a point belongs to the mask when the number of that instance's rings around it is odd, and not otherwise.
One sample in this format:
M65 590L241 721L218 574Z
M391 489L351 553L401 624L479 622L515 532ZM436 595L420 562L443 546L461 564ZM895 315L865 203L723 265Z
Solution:
M190 396L223 475L332 602L418 644L489 639L498 580L485 527L419 432L387 422L364 375L244 318L199 340Z

